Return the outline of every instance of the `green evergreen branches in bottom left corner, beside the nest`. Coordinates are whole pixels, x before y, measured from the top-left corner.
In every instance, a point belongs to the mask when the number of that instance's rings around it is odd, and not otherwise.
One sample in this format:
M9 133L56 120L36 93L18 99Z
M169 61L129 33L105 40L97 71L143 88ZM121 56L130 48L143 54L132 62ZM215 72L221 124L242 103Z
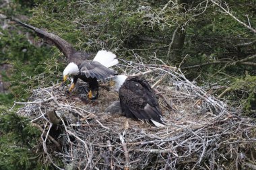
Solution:
M36 153L39 137L28 118L0 106L0 169L48 169Z

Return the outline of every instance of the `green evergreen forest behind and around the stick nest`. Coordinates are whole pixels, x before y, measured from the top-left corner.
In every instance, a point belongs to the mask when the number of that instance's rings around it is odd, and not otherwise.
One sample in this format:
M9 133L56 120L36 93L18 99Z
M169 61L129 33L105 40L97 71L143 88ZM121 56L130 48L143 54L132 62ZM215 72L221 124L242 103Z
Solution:
M0 169L51 169L34 155L40 132L15 114L18 106L9 108L28 99L39 77L45 87L61 81L64 67L56 47L11 17L55 33L77 50L105 49L125 60L175 66L256 118L256 1L1 0Z

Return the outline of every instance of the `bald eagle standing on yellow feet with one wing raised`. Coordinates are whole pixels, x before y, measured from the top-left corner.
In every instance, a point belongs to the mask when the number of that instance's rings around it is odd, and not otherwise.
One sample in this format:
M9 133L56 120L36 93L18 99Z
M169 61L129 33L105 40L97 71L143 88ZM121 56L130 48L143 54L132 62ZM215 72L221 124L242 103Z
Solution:
M98 79L106 79L112 75L115 75L115 71L108 69L117 65L118 60L115 59L116 55L112 52L107 52L105 50L99 51L94 60L86 60L90 56L84 51L75 50L69 42L63 40L59 36L53 33L40 30L34 26L24 24L17 20L13 20L15 23L20 24L26 28L30 28L40 37L51 44L55 44L61 52L66 56L69 65L63 71L63 81L67 80L69 75L73 75L73 83L69 88L69 91L75 87L75 83L78 78L86 81L88 83L90 92L88 96L90 99L98 97ZM96 91L96 95L92 96L92 91Z

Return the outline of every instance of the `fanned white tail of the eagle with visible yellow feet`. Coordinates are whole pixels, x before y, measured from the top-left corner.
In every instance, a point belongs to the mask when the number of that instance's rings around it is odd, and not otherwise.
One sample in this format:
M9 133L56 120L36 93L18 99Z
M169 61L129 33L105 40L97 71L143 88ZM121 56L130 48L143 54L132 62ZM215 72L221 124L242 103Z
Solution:
M94 60L100 62L104 67L112 67L118 63L118 60L115 58L116 54L113 54L113 52L100 50L94 57Z

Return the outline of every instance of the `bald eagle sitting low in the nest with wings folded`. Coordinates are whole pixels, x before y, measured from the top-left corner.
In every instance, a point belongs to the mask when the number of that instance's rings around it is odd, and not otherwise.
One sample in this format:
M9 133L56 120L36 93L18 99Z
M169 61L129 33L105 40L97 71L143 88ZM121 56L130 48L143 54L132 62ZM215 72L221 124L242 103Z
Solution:
M157 127L164 122L158 99L148 81L140 77L113 77L115 91L119 91L121 110L127 118L150 120Z

